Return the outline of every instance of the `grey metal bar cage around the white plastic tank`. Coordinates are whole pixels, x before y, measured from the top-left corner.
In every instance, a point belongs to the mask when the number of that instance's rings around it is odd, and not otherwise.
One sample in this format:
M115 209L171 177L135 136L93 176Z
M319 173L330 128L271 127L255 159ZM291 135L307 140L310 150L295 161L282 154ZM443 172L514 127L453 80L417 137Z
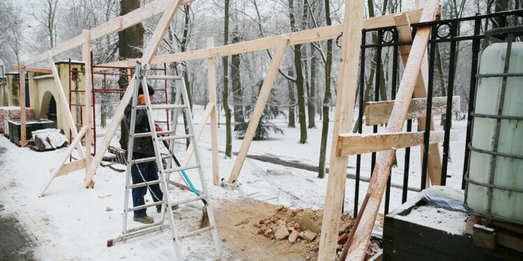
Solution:
M498 107L498 113L497 114L483 114L483 113L475 113L474 111L471 111L470 116L473 118L491 118L496 119L496 129L494 132L494 144L492 146L492 150L483 150L480 148L475 148L472 145L472 141L470 141L467 144L467 148L473 152L478 152L482 154L492 155L492 165L490 168L490 176L489 176L489 182L478 182L476 180L472 180L469 177L469 170L468 168L467 172L465 173L464 180L467 182L467 187L465 187L465 203L464 207L471 210L469 206L467 205L467 192L469 189L469 184L474 184L476 186L480 187L487 187L488 192L488 205L487 205L487 212L479 212L477 210L473 210L473 212L477 214L482 214L487 217L487 220L492 219L492 197L494 194L494 189L504 190L504 191L510 191L515 193L523 193L523 189L517 189L513 187L506 187L494 184L494 176L496 174L496 161L497 157L508 157L513 159L520 159L523 160L523 155L515 155L511 153L505 153L505 152L499 152L498 151L498 144L499 144L499 132L501 129L501 120L523 120L523 116L506 116L503 115L503 104L505 102L505 91L506 91L506 85L507 85L507 79L508 77L523 77L523 72L508 72L508 67L510 64L510 52L512 49L513 42L516 42L519 38L519 40L522 39L523 36L523 26L509 26L509 27L503 27L498 29L492 29L490 31L485 32L485 39L487 40L487 44L490 42L506 42L507 48L506 48L506 54L505 54L505 65L503 68L503 73L498 74L476 74L476 78L487 78L487 77L502 77L503 81L501 82L501 97ZM478 84L478 81L476 81L476 86ZM476 87L477 88L477 87ZM475 94L477 95L477 93ZM474 97L474 102L476 102L476 97ZM470 126L473 132L473 124ZM468 159L467 165L470 166L470 157ZM503 219L500 216L494 216L496 219L499 219L501 221L508 221L512 222L508 219Z

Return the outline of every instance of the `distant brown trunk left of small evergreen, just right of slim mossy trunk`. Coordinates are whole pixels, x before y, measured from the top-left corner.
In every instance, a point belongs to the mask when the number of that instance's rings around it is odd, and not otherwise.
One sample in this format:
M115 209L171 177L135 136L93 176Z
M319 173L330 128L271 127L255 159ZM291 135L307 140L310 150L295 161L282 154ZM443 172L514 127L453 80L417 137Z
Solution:
M240 42L238 32L233 32L232 43ZM232 99L234 102L234 131L237 130L238 123L245 122L243 116L242 97L243 90L241 88L240 75L241 57L239 54L231 57L231 77L232 77Z

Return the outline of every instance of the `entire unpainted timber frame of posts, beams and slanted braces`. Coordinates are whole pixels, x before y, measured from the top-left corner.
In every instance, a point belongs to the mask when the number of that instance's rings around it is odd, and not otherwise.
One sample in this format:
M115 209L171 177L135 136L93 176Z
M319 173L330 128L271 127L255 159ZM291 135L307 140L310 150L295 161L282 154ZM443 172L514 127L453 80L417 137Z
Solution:
M319 246L319 260L334 260L335 248L338 240L338 226L339 217L341 215L343 195L344 195L344 184L346 176L346 168L348 163L348 155L354 155L354 151L350 150L350 143L347 143L349 139L352 139L350 135L343 134L350 131L351 123L354 116L354 101L355 101L355 89L357 86L358 79L358 60L360 54L360 42L361 42L361 30L362 29L374 29L386 26L397 26L398 32L400 33L401 41L409 41L411 39L410 24L416 22L429 22L432 21L437 12L439 6L439 0L429 0L425 9L417 8L404 13L397 13L391 15L384 15L381 17L372 17L369 19L363 19L363 1L361 0L349 0L345 4L344 23L334 26L324 26L317 29L310 29L306 31L298 31L294 33L286 33L283 35L276 35L267 38L261 38L257 40L250 40L240 42L232 45L224 45L220 47L214 47L213 38L207 39L207 48L199 49L195 51L166 54L155 56L156 49L160 45L165 32L169 24L171 23L176 10L187 3L194 0L157 0L152 3L142 6L141 8L132 11L127 15L117 17L112 21L98 26L96 29L84 31L83 35L79 35L76 38L68 40L67 42L55 47L54 49L47 52L47 54L40 54L34 58L20 62L20 72L26 69L26 65L31 65L39 61L43 61L47 58L52 63L52 57L57 54L66 52L68 49L84 45L83 55L86 63L90 61L88 58L90 51L90 42L97 38L107 35L108 33L115 33L126 29L134 24L142 22L144 19L148 19L155 15L162 13L162 17L156 30L151 37L149 45L144 51L144 56L140 59L129 59L126 61L118 61L114 63L107 63L103 66L112 67L131 67L138 61L142 64L153 64L153 63L170 63L170 62L181 62L190 61L195 59L206 59L208 65L208 77L209 77L209 104L204 112L202 122L197 127L196 136L199 139L203 129L206 125L207 120L211 118L211 139L212 139L212 152L213 152L213 183L217 185L220 180L218 173L218 134L217 134L217 118L216 118L216 90L215 90L215 65L214 58L220 56L230 56L234 54L242 54L245 52L255 52L265 49L273 49L273 58L268 67L266 73L266 79L261 87L255 109L250 118L248 129L245 132L245 138L241 144L241 148L238 152L232 173L229 175L228 183L234 184L240 175L243 162L247 156L250 143L255 134L255 129L259 123L261 113L264 110L268 95L273 88L273 82L275 77L278 75L278 68L285 55L285 50L289 45L303 44L306 42L314 42L320 40L328 40L338 37L342 34L342 63L340 65L340 72L338 78L338 97L337 106L335 111L335 125L333 128L333 141L332 141L332 153L331 153L331 172L328 177L328 185L326 191L326 206L324 210L324 221L321 228L321 241ZM354 15L356 14L356 15ZM357 15L361 14L361 15ZM395 148L401 146L421 145L423 139L419 139L420 133L403 134L402 127L404 120L407 117L407 111L411 98L414 93L414 97L423 98L426 97L426 83L427 83L427 59L425 57L425 49L427 47L427 41L430 37L430 27L420 27L414 38L412 47L400 47L402 54L402 61L405 65L404 77L400 83L400 90L397 94L397 99L392 105L391 116L388 119L387 134L377 134L374 136L359 137L361 140L362 147L360 150L373 150L378 152L377 167L374 169L374 175L372 175L369 191L365 196L365 202L363 208L367 207L366 211L362 211L358 216L359 226L357 226L356 236L354 236L354 244L349 249L351 260L362 260L363 253L362 249L365 249L368 238L370 237L370 231L374 224L374 219L377 214L377 209L381 203L381 195L384 191L384 186L388 178L388 169L391 165L391 159ZM412 54L412 55L410 55ZM56 72L54 64L51 64L53 73ZM87 73L87 68L90 70L90 66L86 64L86 81L90 82L92 79L91 74ZM95 69L98 70L98 69ZM21 74L22 75L22 74ZM421 75L421 77L418 77ZM22 77L20 77L22 78ZM89 78L89 79L88 79ZM56 85L60 86L59 79L55 75ZM129 86L133 86L134 79L131 80ZM89 93L89 88L86 88L86 93ZM63 92L63 90L62 90ZM91 93L87 94L87 96ZM95 157L91 157L91 153L86 153L77 161L73 161L69 164L65 164L63 161L58 167L52 171L50 181L46 185L47 189L50 182L54 177L70 173L82 168L86 168L86 175L84 177L85 187L93 185L93 175L96 169L100 165L105 151L107 150L109 143L119 127L119 122L123 118L123 109L128 104L132 95L132 88L128 88L126 93L116 109L116 113L112 120L111 125L107 128L107 134L104 139L103 145L98 146L98 150ZM61 95L63 96L63 95ZM65 101L65 99L63 99ZM86 102L87 104L87 102ZM64 106L66 113L70 116L68 106ZM89 111L89 110L86 110ZM424 114L416 112L418 118L423 118ZM84 116L89 117L89 115ZM414 116L413 116L414 117ZM88 118L89 119L89 118ZM84 120L89 122L89 120ZM420 120L424 122L424 120ZM69 123L70 129L73 135L76 137L75 141L80 145L79 140L82 135L86 135L89 139L92 122L89 122L87 126L82 127L80 132L77 132L74 124ZM423 130L424 126L420 126L420 131ZM374 139L374 140L373 140ZM376 146L376 141L381 142L386 139L388 143ZM432 143L441 141L441 133L434 132L430 136ZM407 140L407 141L405 141ZM73 148L77 144L71 144L68 155L73 151ZM89 148L89 146L87 146ZM382 151L385 150L385 151ZM437 144L430 146L429 148L429 175L432 184L439 184L439 178L441 176L441 158L439 158L439 149ZM80 153L82 150L79 149ZM358 152L358 153L361 153ZM191 151L188 151L184 163L186 164L192 155ZM68 157L68 156L67 156ZM43 196L45 189L42 191L40 196ZM363 219L361 216L365 216ZM363 247L365 246L365 247Z

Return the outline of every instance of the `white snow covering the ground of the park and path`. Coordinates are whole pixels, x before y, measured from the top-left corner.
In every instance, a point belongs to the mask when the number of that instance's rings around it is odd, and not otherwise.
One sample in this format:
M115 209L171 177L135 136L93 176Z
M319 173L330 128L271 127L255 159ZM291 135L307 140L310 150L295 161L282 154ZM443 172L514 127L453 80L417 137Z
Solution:
M195 123L199 122L202 112L202 106L195 106ZM333 118L334 114L331 112L331 119ZM220 122L225 122L222 115L220 115ZM249 155L267 155L285 161L317 166L321 122L317 122L317 129L308 129L308 144L305 145L297 143L299 128L287 128L285 118L278 118L275 122L285 131L285 135L273 134L268 141L253 141ZM437 117L436 124L439 127L439 117ZM332 127L333 122L329 129L327 159L330 154ZM415 128L414 125L413 129ZM453 122L453 128L460 132L460 141L451 143L453 160L449 162L448 169L449 173L453 175L448 179L448 185L459 188L466 122ZM379 132L383 131L384 127L380 127ZM364 128L364 133L370 132L372 132L371 127ZM103 130L100 129L99 133L103 133ZM206 128L199 142L207 184L212 184L210 136L210 130ZM223 151L225 150L225 126L220 125L218 136L219 150ZM112 144L118 144L117 140L113 140ZM238 151L240 145L241 140L233 139L234 152ZM59 164L66 148L51 152L33 152L26 148L17 148L3 137L0 137L0 148L5 148L5 152L0 156L4 169L0 173L0 203L6 206L6 212L17 212L22 225L39 239L38 244L34 246L35 255L39 260L174 259L172 243L167 232L148 235L140 240L126 242L126 244L119 244L112 248L105 247L107 239L121 234L125 182L123 173L100 167L95 176L95 189L84 189L84 173L77 171L70 175L57 177L46 196L38 198L36 195L50 175L48 169ZM181 159L183 159L183 148L181 144L176 147L177 156ZM418 188L420 183L419 150L413 148L411 152L409 186ZM398 166L393 168L392 181L393 184L402 184L404 150L398 150L397 154ZM235 159L235 156L227 159L223 153L220 153L221 177L225 179L229 177ZM354 174L355 166L356 157L349 157L348 172ZM362 166L362 177L369 177L370 154L363 155ZM195 177L194 172L189 175ZM200 187L199 182L194 181L195 185ZM312 171L246 159L238 182L241 192L246 196L268 203L314 209L324 207L327 178L318 179L317 173ZM239 196L236 191L230 192L218 187L210 187L213 198L237 198ZM354 180L347 179L345 212L351 213L354 207L354 187ZM363 200L366 190L367 183L361 182L359 202ZM109 194L111 196L107 196ZM415 192L409 191L409 197L414 194ZM179 199L184 194L170 193L170 195L172 198ZM392 189L391 210L400 204L401 190ZM114 210L107 212L106 207ZM0 212L0 214L6 212ZM383 212L383 207L381 212ZM183 214L183 212L181 213ZM149 212L149 214L156 215L155 217L158 218L156 212ZM183 226L182 229L184 229ZM211 242L202 244L198 240L200 239L184 239L182 249L190 246L192 253L208 252ZM182 253L185 252L187 251L182 251ZM193 259L198 260L198 258Z

